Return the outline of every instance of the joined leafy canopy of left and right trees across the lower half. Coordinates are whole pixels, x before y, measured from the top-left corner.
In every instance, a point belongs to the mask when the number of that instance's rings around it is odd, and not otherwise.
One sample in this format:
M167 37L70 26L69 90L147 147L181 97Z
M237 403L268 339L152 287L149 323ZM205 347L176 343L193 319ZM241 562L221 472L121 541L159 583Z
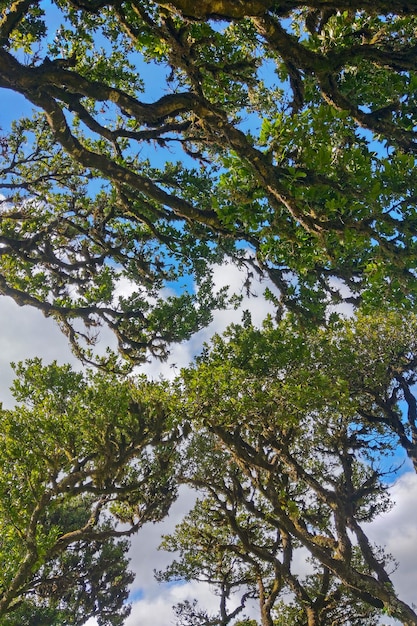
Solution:
M249 599L267 626L417 624L367 535L398 444L416 467L416 326L247 318L172 384L18 365L18 406L0 413L0 623L122 623L123 541L185 485L199 499L164 539L176 556L159 578L207 582L219 611L182 603L179 624L226 626Z

